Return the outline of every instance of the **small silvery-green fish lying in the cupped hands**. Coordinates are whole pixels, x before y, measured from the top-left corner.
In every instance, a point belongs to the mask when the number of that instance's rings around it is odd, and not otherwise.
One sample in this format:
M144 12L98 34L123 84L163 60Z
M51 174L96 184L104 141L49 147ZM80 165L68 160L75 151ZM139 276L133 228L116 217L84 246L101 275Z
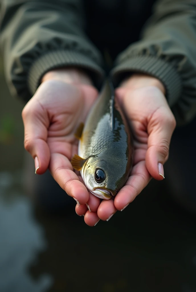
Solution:
M112 82L107 79L85 124L80 124L78 154L71 159L87 189L104 200L114 198L125 185L133 162L133 139Z

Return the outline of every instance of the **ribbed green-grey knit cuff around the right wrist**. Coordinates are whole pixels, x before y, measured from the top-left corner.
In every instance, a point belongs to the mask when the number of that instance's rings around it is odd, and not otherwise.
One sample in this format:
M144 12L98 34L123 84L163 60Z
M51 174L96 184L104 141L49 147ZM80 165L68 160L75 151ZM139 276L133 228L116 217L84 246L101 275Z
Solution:
M181 78L177 70L168 62L152 56L132 57L114 67L111 72L112 80L119 84L127 73L146 73L159 79L166 88L166 98L170 106L181 95Z

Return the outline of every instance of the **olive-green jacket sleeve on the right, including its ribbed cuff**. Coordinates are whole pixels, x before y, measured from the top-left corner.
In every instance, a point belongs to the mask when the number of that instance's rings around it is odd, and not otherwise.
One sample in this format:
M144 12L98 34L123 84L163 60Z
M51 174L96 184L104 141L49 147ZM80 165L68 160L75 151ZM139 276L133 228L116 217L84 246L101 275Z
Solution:
M130 72L147 73L162 81L178 125L195 117L195 0L156 2L141 39L117 57L111 74L119 83Z

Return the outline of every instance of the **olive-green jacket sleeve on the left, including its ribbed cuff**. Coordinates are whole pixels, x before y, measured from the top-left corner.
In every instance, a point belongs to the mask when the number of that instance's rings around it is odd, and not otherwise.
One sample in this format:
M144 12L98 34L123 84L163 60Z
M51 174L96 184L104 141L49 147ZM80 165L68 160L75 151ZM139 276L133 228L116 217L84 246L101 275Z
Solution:
M43 74L57 67L82 67L101 82L102 59L84 33L82 1L0 1L0 45L13 95L28 101Z

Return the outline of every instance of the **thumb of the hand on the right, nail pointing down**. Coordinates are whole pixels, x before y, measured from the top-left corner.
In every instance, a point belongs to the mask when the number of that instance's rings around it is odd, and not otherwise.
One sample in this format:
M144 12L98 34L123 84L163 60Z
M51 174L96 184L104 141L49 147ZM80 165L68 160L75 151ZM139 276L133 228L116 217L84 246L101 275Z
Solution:
M169 157L169 145L175 127L176 121L169 106L157 109L148 121L146 168L156 180L164 179L163 165Z

